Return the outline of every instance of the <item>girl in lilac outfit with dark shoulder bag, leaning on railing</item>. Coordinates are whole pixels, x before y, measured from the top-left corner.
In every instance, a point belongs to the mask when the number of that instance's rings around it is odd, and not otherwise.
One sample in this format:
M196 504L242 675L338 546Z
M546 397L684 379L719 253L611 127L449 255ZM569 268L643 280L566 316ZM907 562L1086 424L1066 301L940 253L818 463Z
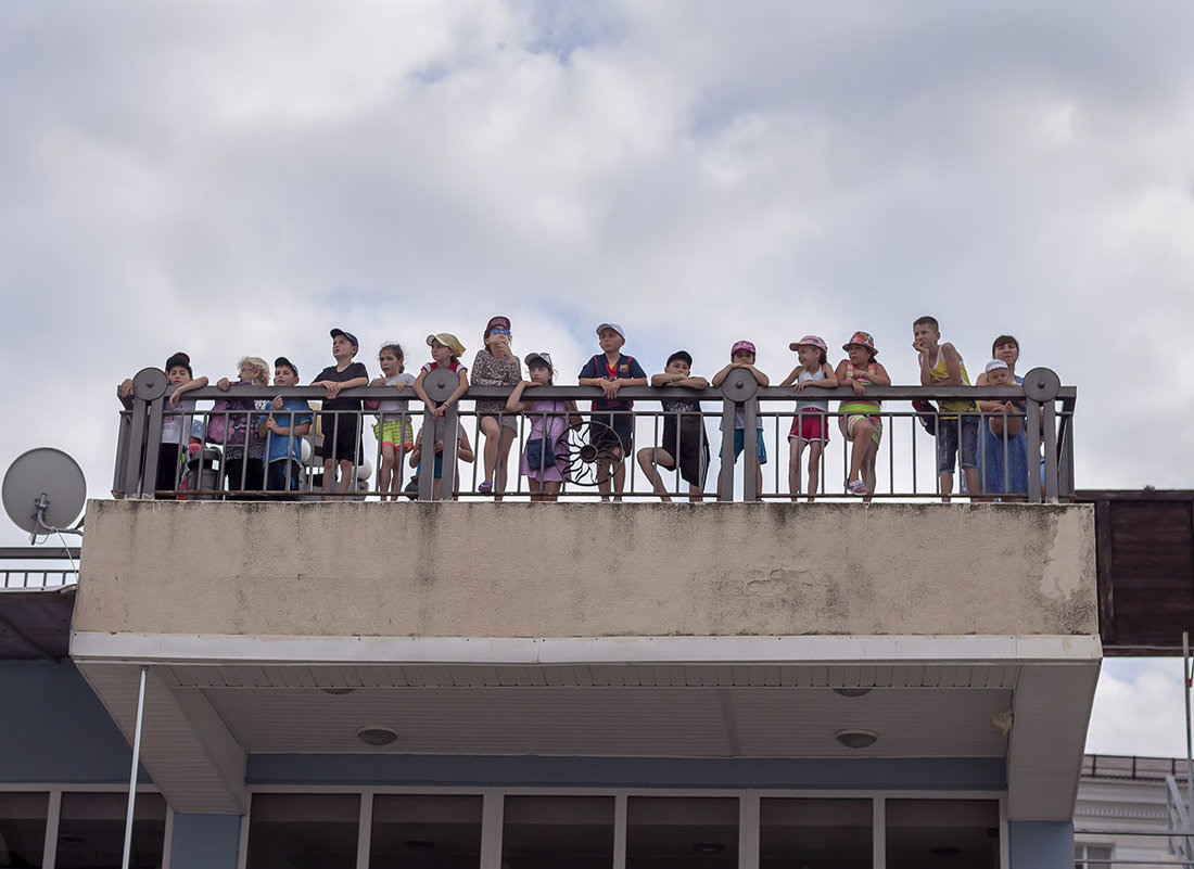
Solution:
M568 479L568 445L564 440L568 419L564 413L577 412L577 402L558 399L531 399L523 401L528 389L540 386L552 386L552 366L549 353L530 353L527 357L529 381L519 381L506 399L507 413L525 413L530 418L530 432L527 434L527 449L523 450L522 473L527 477L533 501L554 501L564 482ZM579 417L573 418L578 424Z

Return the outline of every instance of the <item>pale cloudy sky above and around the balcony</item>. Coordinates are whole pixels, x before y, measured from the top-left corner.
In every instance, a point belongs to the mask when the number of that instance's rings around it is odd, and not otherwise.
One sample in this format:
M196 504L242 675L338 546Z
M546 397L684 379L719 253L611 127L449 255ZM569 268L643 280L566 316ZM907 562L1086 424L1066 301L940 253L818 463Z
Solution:
M55 445L106 493L113 387L177 349L307 375L340 326L376 371L504 313L568 377L607 319L648 370L745 337L782 376L862 328L911 383L933 313L972 371L1010 332L1078 387L1081 487L1189 487L1192 32L1186 0L0 4L0 467ZM1108 665L1090 750L1183 753L1180 679Z

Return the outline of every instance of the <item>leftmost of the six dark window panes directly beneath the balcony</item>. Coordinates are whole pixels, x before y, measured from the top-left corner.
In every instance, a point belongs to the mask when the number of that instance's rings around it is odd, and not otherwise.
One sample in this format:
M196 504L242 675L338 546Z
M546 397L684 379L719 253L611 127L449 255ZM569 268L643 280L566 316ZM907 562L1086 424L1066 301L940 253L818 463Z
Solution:
M359 794L253 794L247 869L356 869Z

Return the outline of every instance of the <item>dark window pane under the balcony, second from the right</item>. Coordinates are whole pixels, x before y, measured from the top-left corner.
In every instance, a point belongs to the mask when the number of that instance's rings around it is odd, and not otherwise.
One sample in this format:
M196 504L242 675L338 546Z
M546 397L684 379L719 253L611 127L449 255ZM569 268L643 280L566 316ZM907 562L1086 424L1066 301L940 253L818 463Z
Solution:
M869 869L873 863L870 800L759 800L762 869Z

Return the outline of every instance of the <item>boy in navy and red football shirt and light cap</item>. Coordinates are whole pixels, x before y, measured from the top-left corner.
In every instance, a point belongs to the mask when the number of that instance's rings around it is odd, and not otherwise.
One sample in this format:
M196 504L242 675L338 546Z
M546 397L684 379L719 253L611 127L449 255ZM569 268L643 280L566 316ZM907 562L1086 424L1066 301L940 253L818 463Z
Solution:
M630 451L634 442L634 418L630 415L634 402L617 397L617 390L622 387L647 386L647 374L633 356L622 355L626 332L616 322L603 322L598 326L597 339L603 352L592 357L580 369L579 383L583 387L601 387L605 393L605 397L593 400L593 411L607 411L607 413L593 413L592 421L611 430L611 432L599 430L592 436L592 444L599 450L597 488L601 489L602 500L609 500L609 480L613 475L614 500L620 501L622 489L626 487L626 467L622 457ZM610 411L617 413L609 413ZM610 474L615 463L617 470Z

